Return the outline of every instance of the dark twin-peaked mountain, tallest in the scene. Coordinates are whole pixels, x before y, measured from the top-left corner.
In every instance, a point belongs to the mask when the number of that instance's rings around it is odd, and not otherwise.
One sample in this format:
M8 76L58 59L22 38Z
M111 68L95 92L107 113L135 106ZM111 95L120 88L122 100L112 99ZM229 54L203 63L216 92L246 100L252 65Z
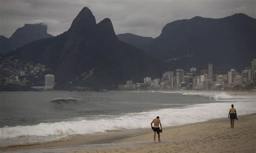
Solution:
M56 72L57 86L115 88L126 80L141 82L144 77L157 78L165 64L139 48L117 39L109 18L98 24L88 8L83 8L68 31L19 47L5 56L42 63ZM93 75L78 81L76 78Z

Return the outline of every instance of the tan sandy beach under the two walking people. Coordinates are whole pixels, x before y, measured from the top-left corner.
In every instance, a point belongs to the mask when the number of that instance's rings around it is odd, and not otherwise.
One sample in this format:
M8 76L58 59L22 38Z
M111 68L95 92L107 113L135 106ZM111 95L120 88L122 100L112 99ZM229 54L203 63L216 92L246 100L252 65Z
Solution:
M67 140L1 148L10 152L255 152L256 114L230 120L164 127L161 142L153 142L151 129L78 135Z

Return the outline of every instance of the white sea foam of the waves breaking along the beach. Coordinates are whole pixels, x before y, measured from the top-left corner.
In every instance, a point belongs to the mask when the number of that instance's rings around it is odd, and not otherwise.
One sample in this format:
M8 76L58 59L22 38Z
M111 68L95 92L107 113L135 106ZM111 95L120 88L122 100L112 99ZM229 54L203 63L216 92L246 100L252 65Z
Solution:
M191 94L191 93L187 93ZM194 93L192 93L194 94ZM200 94L213 96L218 99L230 99L234 96L225 93L220 94ZM237 98L240 98L239 96ZM237 108L238 115L256 113L256 96L247 96L254 101L244 101L204 103L198 105L185 106L180 108L166 108L152 110L149 112L121 114L118 116L103 115L95 120L88 120L79 117L79 120L63 121L56 123L40 123L35 126L16 126L0 128L0 140L24 137L24 136L59 136L73 134L93 134L104 133L107 130L138 129L149 128L150 122L156 116L160 116L163 127L179 126L187 123L207 121L214 118L227 117L228 109L233 103Z

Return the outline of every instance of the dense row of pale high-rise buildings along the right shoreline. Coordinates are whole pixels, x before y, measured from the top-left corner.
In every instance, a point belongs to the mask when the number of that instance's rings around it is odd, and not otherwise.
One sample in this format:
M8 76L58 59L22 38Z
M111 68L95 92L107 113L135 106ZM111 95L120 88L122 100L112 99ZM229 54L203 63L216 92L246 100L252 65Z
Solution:
M213 74L213 64L208 64L208 69L190 68L190 72L185 73L181 68L175 72L167 71L162 78L151 79L146 77L143 83L133 84L132 80L127 80L126 85L119 85L120 90L134 89L252 89L256 82L256 59L251 61L251 68L237 72L230 69L226 74Z

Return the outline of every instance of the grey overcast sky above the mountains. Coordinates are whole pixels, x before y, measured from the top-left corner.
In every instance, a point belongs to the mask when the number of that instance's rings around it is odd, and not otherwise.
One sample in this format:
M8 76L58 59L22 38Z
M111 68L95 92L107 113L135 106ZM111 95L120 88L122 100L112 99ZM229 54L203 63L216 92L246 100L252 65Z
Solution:
M97 23L110 18L116 34L157 37L165 24L194 16L223 18L233 13L254 17L256 0L0 0L0 35L10 37L25 23L45 23L56 36L68 30L86 6Z

